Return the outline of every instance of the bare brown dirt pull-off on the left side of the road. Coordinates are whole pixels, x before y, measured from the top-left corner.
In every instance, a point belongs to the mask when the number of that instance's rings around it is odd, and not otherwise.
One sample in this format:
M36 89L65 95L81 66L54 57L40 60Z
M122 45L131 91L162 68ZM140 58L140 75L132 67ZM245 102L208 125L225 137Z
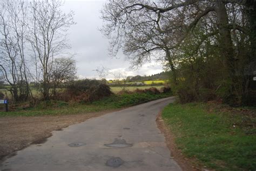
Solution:
M111 111L64 116L0 117L0 160L30 144L42 144L52 131L102 116Z

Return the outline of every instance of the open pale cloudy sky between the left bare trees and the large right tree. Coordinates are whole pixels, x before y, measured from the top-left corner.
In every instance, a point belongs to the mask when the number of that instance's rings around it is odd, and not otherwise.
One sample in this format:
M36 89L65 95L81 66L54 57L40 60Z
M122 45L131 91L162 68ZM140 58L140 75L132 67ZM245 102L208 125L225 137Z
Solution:
M76 25L71 26L69 40L72 48L71 53L77 53L75 60L77 63L77 75L80 78L97 78L95 70L104 66L112 73L122 73L123 75L151 75L162 71L161 63L147 63L139 70L130 70L129 61L125 61L123 53L119 53L117 58L108 55L107 48L109 40L103 37L99 28L102 26L100 19L100 9L104 0L66 0L63 10L67 13L70 10L75 12L74 20ZM113 79L113 75L106 76Z

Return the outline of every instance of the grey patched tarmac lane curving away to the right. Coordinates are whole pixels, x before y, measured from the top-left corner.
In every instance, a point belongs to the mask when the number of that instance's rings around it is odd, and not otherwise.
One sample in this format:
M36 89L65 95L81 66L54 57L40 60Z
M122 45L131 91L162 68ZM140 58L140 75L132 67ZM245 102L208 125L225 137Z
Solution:
M181 170L156 124L173 101L158 99L53 131L45 143L6 159L0 170Z

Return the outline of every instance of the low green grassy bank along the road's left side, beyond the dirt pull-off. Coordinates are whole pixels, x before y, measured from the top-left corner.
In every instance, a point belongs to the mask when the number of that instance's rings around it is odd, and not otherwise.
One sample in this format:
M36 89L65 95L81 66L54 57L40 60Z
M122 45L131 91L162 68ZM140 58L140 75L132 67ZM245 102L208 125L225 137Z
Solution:
M44 101L33 108L17 107L14 111L0 112L1 116L45 116L45 115L73 115L80 113L100 112L132 106L140 103L153 101L159 98L171 96L171 92L152 94L132 93L122 95L111 95L92 103ZM4 108L2 105L0 108Z

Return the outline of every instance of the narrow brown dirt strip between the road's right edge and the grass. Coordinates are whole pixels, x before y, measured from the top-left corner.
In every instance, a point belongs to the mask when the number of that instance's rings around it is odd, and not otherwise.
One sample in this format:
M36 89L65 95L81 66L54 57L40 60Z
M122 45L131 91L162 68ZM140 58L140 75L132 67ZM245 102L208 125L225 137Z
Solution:
M181 150L177 148L176 144L174 143L175 137L170 129L164 124L164 120L161 117L161 112L158 113L156 122L158 129L161 131L161 133L164 133L166 145L171 151L171 158L179 164L181 169L184 171L203 170L194 166L192 164L193 160L187 159L182 154Z

